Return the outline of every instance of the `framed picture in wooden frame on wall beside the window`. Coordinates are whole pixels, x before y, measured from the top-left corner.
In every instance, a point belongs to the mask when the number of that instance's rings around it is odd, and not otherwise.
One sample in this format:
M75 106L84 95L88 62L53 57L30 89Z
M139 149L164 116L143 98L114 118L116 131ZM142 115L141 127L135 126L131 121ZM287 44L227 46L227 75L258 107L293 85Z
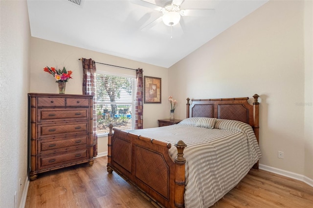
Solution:
M161 103L161 78L144 76L144 103Z

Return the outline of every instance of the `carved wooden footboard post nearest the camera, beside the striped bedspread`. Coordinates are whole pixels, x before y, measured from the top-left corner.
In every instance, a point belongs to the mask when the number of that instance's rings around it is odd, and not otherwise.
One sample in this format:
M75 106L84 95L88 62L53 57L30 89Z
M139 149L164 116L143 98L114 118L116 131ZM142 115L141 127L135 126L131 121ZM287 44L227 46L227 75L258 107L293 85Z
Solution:
M184 148L187 146L183 141L179 140L175 144L177 148L177 157L175 158L176 173L175 173L175 200L176 208L184 207L184 192L185 192L185 163L186 159L183 157Z

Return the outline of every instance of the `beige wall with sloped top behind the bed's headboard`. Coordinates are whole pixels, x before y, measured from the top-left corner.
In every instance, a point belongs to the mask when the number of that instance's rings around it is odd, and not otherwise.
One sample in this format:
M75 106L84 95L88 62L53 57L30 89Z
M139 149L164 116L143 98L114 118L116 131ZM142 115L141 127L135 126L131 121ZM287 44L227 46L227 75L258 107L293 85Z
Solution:
M172 66L169 93L179 102L259 94L260 163L313 179L312 37L312 2L269 1Z

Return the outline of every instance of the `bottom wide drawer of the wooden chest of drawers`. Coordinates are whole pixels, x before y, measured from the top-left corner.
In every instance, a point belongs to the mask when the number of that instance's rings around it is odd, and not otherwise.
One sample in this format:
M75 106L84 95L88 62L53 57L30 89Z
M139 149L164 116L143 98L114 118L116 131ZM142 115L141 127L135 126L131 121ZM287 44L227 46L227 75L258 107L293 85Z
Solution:
M87 149L74 152L65 152L64 154L55 154L49 156L40 156L38 158L38 169L46 169L58 166L67 165L70 163L87 160Z

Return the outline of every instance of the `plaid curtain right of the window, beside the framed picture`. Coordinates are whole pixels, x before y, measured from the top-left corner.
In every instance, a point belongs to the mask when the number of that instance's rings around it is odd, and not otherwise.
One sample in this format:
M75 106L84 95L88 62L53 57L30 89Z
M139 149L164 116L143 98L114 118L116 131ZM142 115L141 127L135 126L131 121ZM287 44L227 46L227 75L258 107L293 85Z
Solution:
M136 109L135 109L135 129L143 128L143 76L142 69L136 70Z

